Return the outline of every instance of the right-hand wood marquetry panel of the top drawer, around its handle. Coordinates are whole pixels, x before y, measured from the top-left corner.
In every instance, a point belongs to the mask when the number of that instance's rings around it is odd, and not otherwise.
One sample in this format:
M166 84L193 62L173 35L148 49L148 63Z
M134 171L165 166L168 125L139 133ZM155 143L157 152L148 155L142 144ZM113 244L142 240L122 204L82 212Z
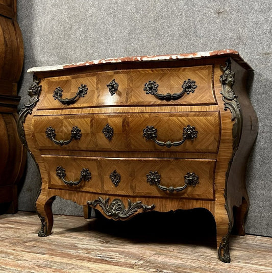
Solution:
M193 105L193 104L216 104L212 84L212 65L168 68L168 69L138 69L131 71L132 92L129 103L131 104L163 104L163 105ZM197 85L193 93L185 93L176 101L161 101L154 95L145 94L144 84L155 81L158 93L180 93L184 81L195 81Z

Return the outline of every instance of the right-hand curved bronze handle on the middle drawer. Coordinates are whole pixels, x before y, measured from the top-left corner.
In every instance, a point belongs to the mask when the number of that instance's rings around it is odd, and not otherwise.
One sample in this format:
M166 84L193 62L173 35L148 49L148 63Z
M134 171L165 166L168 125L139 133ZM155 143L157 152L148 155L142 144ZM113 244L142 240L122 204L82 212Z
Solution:
M187 127L183 128L183 139L181 141L159 141L156 139L157 137L157 129L154 128L154 126L146 126L145 129L143 129L143 137L145 137L146 140L154 140L154 142L160 146L166 146L167 148L170 148L171 146L179 146L181 145L186 139L194 139L197 137L197 131L195 131L194 126L187 125Z

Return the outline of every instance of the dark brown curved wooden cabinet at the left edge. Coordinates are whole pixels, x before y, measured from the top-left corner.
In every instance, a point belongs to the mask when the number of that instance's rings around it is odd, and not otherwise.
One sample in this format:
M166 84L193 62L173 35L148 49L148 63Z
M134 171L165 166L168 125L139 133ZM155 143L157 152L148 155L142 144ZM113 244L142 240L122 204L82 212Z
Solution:
M23 43L16 19L16 1L0 1L0 208L16 213L17 183L25 153L17 134L17 82L23 63Z

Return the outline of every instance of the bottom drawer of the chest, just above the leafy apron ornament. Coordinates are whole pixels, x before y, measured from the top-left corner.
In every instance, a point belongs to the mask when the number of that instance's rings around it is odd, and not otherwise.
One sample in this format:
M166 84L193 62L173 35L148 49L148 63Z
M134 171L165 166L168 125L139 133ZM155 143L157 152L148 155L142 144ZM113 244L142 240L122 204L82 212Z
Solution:
M216 160L42 156L49 188L111 195L214 199Z

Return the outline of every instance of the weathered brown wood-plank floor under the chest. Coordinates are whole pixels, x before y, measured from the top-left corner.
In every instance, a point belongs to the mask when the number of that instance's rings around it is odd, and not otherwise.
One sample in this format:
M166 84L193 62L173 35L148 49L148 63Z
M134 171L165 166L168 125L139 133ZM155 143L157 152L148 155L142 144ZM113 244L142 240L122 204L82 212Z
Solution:
M55 215L48 237L37 236L35 213L0 215L0 272L272 272L272 238L231 236L226 264L211 243L213 228L196 237L205 224L145 214L122 222Z

